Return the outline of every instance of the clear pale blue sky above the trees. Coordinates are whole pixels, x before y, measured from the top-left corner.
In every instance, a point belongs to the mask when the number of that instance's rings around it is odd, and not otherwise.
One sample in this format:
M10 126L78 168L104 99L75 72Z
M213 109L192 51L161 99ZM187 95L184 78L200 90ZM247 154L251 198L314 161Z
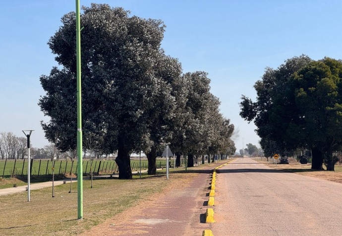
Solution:
M221 113L235 126L237 150L259 146L255 125L239 116L239 102L242 94L255 100L253 85L266 67L301 54L342 58L341 0L80 0L91 2L164 21L162 47L184 73L209 74ZM74 0L1 1L0 132L24 137L22 130L35 130L35 147L48 144L40 121L49 117L37 104L45 95L39 77L58 65L47 42L70 11Z

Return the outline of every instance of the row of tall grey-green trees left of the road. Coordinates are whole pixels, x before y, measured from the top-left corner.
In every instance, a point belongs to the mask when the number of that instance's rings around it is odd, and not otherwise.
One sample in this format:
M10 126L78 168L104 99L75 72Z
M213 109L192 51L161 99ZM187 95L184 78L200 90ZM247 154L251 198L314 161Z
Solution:
M119 178L132 178L129 154L144 151L148 174L156 173L156 156L166 144L180 155L232 154L234 126L219 112L207 73L182 73L177 59L161 48L161 20L129 16L108 4L83 7L82 130L88 150L117 150ZM49 46L60 65L40 77L46 95L39 100L50 117L41 122L46 138L62 150L76 148L75 13Z

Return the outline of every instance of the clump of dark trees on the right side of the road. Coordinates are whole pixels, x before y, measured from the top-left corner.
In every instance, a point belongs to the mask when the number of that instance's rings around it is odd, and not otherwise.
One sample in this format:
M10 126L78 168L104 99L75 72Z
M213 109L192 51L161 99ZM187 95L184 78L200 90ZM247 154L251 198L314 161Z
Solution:
M243 96L240 115L257 126L265 155L312 150L312 169L334 170L342 147L342 61L302 55L255 83L257 100Z

